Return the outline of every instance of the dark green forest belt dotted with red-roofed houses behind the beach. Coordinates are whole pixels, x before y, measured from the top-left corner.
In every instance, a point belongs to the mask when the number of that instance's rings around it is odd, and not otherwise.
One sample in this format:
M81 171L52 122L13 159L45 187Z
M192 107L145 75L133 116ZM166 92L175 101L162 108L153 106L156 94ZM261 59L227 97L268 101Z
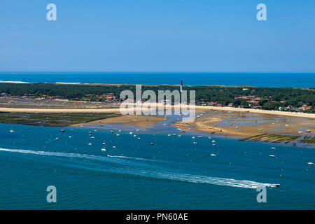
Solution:
M42 97L43 94L49 96L59 96L64 99L81 100L86 94L113 94L116 99L120 98L120 92L131 90L135 93L135 85L58 85L52 83L32 83L15 84L0 83L0 93L22 96L22 94L34 94ZM225 86L187 86L184 90L195 90L197 104L207 104L218 102L223 106L232 103L234 106L249 107L253 103L247 99L236 99L236 97L254 96L255 106L262 109L279 109L279 106L292 106L298 108L303 104L315 106L314 88L292 88L292 87L225 87ZM158 95L158 90L179 90L176 85L142 85L142 92L153 90ZM134 94L135 95L135 94ZM189 94L188 94L189 97ZM93 99L92 99L93 100ZM288 109L290 110L290 109Z

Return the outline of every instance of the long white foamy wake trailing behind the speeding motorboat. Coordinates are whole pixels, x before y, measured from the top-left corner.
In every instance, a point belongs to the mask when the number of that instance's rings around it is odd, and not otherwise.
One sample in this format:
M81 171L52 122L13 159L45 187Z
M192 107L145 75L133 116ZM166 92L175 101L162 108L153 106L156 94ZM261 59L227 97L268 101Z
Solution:
M71 167L80 167L82 169L89 169L99 172L109 172L113 174L129 174L133 176L141 176L144 178L152 178L152 179L167 179L172 181L183 181L190 183L206 183L211 185L218 186L231 186L237 188L257 188L258 186L265 186L269 188L276 187L275 184L272 183L258 183L255 181L247 181L247 180L236 180L236 179L225 179L220 177L211 177L211 176L201 176L195 174L183 174L174 172L174 169L166 169L165 167L159 167L151 164L146 164L144 162L131 162L130 158L127 156L120 155L108 155L98 156L98 155L86 155L86 154L78 154L78 153L58 153L58 152L47 152L47 151L31 151L31 150L22 150L22 149L9 149L9 148L0 148L0 151L6 151L11 153L26 153L26 154L34 154L34 155L47 155L47 156L55 156L55 157L64 157L64 158L80 158L84 160L97 160L102 162L111 162L116 163L118 165L123 165L123 167L113 167L108 166L106 168L102 166L93 166L91 167L86 165L71 165L67 164ZM132 158L134 160L147 160L142 158Z

